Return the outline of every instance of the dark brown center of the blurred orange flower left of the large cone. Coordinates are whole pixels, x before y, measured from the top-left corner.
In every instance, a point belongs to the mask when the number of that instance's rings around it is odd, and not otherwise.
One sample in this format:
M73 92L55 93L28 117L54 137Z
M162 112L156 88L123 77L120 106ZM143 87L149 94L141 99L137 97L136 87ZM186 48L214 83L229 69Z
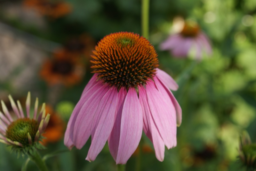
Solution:
M62 75L68 75L73 69L73 65L70 61L55 61L52 65L52 72L60 73Z

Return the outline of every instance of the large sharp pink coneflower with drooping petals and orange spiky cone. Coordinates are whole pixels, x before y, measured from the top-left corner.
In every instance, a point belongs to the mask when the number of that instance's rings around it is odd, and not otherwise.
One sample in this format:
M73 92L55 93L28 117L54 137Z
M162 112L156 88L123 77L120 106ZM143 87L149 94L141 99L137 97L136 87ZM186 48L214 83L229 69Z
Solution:
M163 161L164 146L177 144L181 108L170 91L178 85L157 68L155 48L138 34L120 32L105 36L93 54L95 74L69 119L64 144L81 149L92 136L86 160L93 161L108 141L116 164L125 164L143 129Z

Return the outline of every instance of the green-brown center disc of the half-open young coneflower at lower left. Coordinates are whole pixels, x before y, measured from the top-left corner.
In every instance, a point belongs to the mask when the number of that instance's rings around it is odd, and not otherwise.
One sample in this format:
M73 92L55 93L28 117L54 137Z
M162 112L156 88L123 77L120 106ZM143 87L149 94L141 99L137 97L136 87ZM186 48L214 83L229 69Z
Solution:
M28 133L31 136L32 143L35 139L39 124L36 120L30 118L20 118L12 122L6 130L6 138L21 143L24 147L29 146Z

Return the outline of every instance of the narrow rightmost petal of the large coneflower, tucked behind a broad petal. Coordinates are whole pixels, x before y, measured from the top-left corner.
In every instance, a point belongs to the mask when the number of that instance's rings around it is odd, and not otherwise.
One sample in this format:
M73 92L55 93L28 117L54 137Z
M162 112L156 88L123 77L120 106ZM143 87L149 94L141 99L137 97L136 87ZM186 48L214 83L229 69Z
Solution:
M158 79L162 85L165 87L165 91L168 93L169 97L172 100L172 104L175 106L175 110L176 110L176 119L177 119L177 126L179 127L182 121L182 110L180 107L180 104L178 103L178 101L175 99L174 95L172 94L172 92L170 91L169 87L167 87L167 85L165 85L160 79Z

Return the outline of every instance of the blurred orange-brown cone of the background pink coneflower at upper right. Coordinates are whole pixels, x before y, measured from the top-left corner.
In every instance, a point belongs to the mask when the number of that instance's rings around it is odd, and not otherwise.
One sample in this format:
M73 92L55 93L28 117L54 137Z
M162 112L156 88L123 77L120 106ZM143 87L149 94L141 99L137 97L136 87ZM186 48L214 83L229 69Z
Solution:
M184 37L196 37L200 31L200 27L195 21L186 21L181 34Z

